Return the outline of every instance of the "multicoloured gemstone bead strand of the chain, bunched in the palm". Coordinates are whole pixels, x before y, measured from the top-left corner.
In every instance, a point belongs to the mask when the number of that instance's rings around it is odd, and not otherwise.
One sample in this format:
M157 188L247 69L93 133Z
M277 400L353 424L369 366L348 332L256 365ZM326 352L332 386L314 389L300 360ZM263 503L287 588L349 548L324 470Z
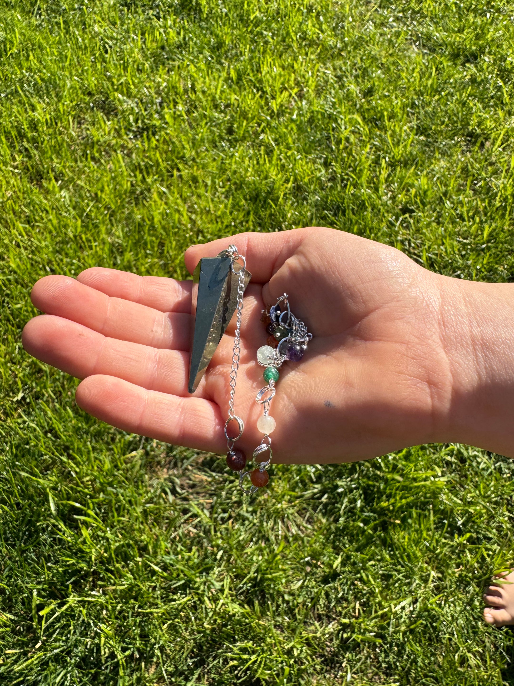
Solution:
M254 450L252 456L254 469L252 471L238 470L239 485L247 494L255 493L258 488L268 484L267 470L269 469L271 458L273 458L269 434L276 427L276 421L269 414L269 406L276 393L275 384L280 376L278 370L284 362L299 362L304 356L308 342L313 338L313 334L307 331L304 322L301 322L291 314L289 301L285 293L278 298L275 305L262 310L260 320L266 325L266 331L269 333L268 344L261 346L257 351L257 362L260 366L265 367L262 376L267 383L267 386L260 389L255 399L256 403L262 405L264 409L264 414L257 421L257 428L261 434L264 434L264 437ZM267 459L262 459L262 453L267 453ZM241 460L241 463L238 462L238 464L242 464L242 462L243 460ZM245 477L249 477L251 482L249 488L245 488Z

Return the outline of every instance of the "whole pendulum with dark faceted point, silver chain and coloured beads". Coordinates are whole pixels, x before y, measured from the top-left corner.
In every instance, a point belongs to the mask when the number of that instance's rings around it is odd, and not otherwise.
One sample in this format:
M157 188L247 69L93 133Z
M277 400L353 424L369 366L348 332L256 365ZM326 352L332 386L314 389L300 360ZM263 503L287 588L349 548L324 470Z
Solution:
M239 473L239 485L247 494L255 493L258 488L268 484L267 470L273 457L269 435L276 427L275 420L269 414L269 406L276 393L275 384L280 375L278 370L286 361L298 362L302 359L308 342L313 338L313 335L308 333L304 322L291 314L285 293L278 298L275 305L262 310L261 321L266 326L269 338L268 344L258 349L257 362L265 367L262 376L267 386L260 389L256 395L256 402L264 408L264 413L257 421L257 429L264 436L252 456L254 469L245 471L247 462L245 453L234 447L236 441L243 436L245 429L243 420L234 411L234 396L241 356L243 295L251 278L252 274L246 270L245 257L239 255L236 246L229 246L228 250L223 250L217 257L204 257L199 261L193 275L191 314L195 318L195 325L191 342L188 383L189 392L195 392L235 313L236 331L230 368L230 399L228 419L225 422L225 438L228 447L227 465L232 471ZM236 436L229 436L229 427L232 422L237 425ZM232 432L233 429L231 429ZM267 453L267 459L262 459L264 457L262 453ZM249 488L245 487L245 477L249 477Z

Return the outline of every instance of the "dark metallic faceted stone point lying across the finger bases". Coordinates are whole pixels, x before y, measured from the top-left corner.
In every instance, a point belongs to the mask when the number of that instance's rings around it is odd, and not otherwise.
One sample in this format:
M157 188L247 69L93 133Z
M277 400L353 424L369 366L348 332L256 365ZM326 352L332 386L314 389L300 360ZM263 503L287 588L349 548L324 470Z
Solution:
M237 268L237 267L236 267ZM252 274L245 270L245 289ZM223 253L203 257L193 274L191 353L188 391L194 393L237 307L238 274Z

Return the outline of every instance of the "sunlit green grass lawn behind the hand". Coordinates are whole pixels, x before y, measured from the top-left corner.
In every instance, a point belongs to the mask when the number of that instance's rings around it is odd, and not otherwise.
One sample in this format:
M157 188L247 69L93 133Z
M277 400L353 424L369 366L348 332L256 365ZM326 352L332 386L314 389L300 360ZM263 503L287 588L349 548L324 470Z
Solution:
M513 1L1 0L0 65L1 685L513 685L480 620L510 460L276 466L246 501L20 343L38 277L184 276L240 230L514 280Z

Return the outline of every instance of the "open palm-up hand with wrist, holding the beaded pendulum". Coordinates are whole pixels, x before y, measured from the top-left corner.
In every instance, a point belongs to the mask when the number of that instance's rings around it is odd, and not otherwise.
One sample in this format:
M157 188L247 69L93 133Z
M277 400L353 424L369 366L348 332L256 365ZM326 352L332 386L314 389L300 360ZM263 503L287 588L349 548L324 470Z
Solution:
M193 246L185 255L188 270L230 243L252 272L235 407L245 421L238 447L248 456L262 438L256 429L262 407L255 403L265 386L256 362L267 339L261 310L284 292L313 340L301 362L280 369L270 410L277 425L274 461L363 460L450 440L514 454L504 407L514 364L504 354L500 365L493 351L500 313L510 340L509 285L438 276L395 248L317 227ZM223 453L234 320L189 395L191 285L103 268L76 280L45 276L32 300L47 314L28 322L23 345L84 379L77 404L93 416L125 431ZM498 344L505 347L501 337ZM489 430L480 432L481 419L491 423Z

